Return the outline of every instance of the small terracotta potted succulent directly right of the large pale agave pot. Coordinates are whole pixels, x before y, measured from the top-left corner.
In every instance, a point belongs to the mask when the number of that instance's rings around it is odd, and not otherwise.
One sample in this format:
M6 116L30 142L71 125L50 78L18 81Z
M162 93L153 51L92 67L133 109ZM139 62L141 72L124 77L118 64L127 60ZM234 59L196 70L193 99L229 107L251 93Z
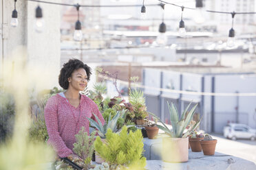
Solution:
M203 139L204 139L204 135L202 133L197 134L197 132L193 132L189 136L189 145L191 147L191 151L193 151L193 152L202 151L200 140L203 140Z

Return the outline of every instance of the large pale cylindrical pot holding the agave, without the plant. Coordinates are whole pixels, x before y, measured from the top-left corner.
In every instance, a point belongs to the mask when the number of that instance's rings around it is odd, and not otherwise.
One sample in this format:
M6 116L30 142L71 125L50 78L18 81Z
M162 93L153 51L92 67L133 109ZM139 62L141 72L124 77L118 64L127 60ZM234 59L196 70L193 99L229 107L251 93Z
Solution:
M187 162L189 160L189 138L162 138L162 160L165 162Z

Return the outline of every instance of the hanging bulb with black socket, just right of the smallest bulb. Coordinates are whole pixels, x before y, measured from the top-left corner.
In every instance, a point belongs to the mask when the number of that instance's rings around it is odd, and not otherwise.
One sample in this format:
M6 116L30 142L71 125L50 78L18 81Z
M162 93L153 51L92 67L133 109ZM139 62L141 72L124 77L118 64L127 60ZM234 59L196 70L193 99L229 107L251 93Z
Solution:
M159 34L158 37L156 38L156 43L158 45L164 46L167 44L167 35L165 32L167 31L167 25L164 23L164 3L161 3L161 8L162 8L162 23L159 25Z

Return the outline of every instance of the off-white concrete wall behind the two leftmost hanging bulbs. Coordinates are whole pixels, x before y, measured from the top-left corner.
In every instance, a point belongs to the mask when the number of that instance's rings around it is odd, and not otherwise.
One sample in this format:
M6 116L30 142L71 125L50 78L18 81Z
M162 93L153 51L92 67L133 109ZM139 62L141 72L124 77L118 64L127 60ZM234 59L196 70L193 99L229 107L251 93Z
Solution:
M48 0L50 1L50 0ZM56 0L55 2L61 2ZM30 75L32 76L30 88L39 91L58 85L60 70L60 7L40 3L43 9L45 29L41 34L34 30L35 8L39 3L32 1L17 1L18 27L10 27L14 1L1 2L1 62L2 75L7 62L15 62L25 58Z

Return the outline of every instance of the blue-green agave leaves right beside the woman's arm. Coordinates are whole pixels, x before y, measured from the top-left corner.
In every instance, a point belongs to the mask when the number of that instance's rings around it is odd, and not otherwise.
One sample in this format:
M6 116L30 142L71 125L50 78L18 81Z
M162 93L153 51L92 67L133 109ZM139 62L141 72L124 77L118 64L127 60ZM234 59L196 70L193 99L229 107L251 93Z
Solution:
M92 113L92 114L94 114L94 113ZM111 119L111 114L109 114L109 119L108 119L108 121L105 122L104 125L102 125L102 123L100 123L100 119L98 119L96 114L94 114L94 117L96 118L98 123L96 121L94 121L93 119L90 119L90 118L87 118L87 119L89 120L89 122L91 123L92 126L96 127L100 138L106 138L105 134L107 133L107 129L110 128L112 130L112 132L118 132L118 128L117 128L118 119L120 117L122 117L122 115L124 115L124 114L125 114L125 110L117 111L117 113L113 117L113 119ZM134 126L134 125L127 125L127 127L132 127L132 126Z

